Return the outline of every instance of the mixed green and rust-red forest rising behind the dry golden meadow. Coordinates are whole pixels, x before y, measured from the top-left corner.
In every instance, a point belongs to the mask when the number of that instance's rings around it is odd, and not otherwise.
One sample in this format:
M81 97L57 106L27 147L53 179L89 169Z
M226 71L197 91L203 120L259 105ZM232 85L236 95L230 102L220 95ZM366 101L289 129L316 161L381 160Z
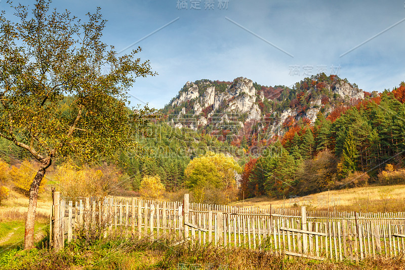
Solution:
M353 106L337 106L327 118L319 113L313 125L291 119L286 134L270 143L273 150L245 165L241 192L279 198L403 182L404 101L402 82Z

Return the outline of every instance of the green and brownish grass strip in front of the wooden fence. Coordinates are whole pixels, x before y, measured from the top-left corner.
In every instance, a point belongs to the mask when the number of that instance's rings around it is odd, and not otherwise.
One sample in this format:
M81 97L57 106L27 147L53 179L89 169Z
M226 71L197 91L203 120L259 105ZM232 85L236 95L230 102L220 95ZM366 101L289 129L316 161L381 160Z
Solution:
M404 258L383 257L353 262L316 261L303 258L289 260L274 253L213 245L173 245L158 239L148 242L125 238L86 240L67 244L61 252L48 249L30 251L9 249L0 254L0 270L47 269L403 269Z

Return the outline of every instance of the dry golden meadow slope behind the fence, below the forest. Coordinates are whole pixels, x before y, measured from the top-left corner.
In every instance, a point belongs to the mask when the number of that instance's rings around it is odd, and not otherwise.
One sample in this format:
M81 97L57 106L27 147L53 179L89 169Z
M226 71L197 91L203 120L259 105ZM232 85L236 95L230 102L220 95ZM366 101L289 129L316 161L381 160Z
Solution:
M405 185L367 186L330 190L297 198L272 199L266 196L234 202L233 206L260 208L296 208L307 206L309 210L362 212L396 212L405 210Z

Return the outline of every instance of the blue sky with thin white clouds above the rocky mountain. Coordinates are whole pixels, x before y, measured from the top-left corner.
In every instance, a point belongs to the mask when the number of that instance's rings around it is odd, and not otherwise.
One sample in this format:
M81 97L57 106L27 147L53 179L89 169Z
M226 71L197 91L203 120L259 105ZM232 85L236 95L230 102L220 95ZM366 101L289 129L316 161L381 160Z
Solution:
M161 108L185 82L199 79L244 76L261 85L291 86L322 70L367 91L405 80L404 0L69 0L52 6L83 18L101 7L108 20L104 42L117 51L149 35L132 48L142 47L139 57L149 59L158 75L137 80L132 105ZM10 11L5 0L0 7Z

